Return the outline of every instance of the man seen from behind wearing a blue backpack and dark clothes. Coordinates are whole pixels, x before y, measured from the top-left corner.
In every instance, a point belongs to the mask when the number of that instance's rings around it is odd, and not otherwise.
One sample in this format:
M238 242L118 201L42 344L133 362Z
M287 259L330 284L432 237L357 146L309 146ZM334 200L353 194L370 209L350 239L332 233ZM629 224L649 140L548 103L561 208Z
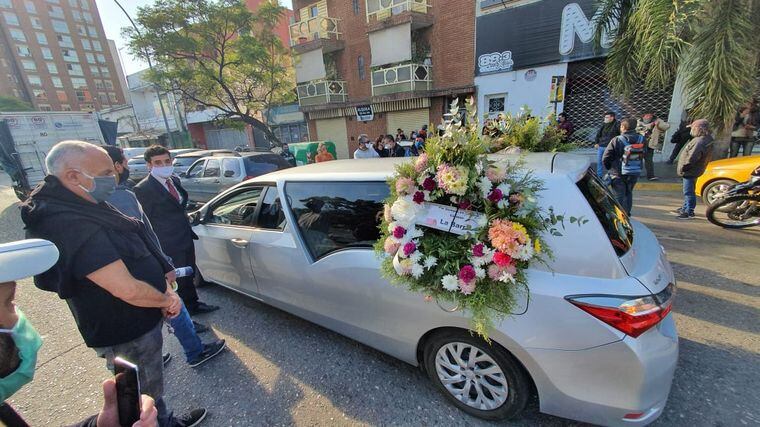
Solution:
M630 216L633 206L633 187L639 180L644 163L644 137L636 133L636 120L624 119L620 134L607 145L602 164L609 171L611 186L620 206Z

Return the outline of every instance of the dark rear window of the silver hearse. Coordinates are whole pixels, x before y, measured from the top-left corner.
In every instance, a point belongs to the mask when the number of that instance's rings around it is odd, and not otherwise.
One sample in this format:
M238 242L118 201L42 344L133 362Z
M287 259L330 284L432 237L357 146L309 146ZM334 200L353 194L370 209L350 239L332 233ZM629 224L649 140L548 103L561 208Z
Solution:
M578 181L578 188L594 210L617 255L625 255L633 245L633 227L628 215L590 170Z

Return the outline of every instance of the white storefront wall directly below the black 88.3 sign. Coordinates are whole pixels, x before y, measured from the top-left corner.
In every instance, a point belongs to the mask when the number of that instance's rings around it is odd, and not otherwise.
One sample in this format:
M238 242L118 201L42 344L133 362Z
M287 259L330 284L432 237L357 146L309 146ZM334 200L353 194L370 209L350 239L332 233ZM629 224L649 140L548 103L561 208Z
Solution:
M532 81L525 78L529 70L536 72L536 78ZM488 113L486 98L489 95L506 93L505 112L517 114L520 108L527 105L534 116L544 117L554 111L549 103L552 76L566 75L567 64L561 63L475 77L478 115L482 119L483 115ZM562 107L562 103L557 105L557 113L562 112Z

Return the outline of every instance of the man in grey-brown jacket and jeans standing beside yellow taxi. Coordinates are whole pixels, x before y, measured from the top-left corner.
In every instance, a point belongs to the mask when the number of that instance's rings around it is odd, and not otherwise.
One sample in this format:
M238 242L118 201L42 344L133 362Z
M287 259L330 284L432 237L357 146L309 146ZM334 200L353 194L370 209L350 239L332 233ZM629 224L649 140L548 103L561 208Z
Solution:
M695 120L691 124L692 140L678 159L678 176L683 178L683 206L675 213L678 219L694 219L694 208L697 207L695 187L697 178L705 173L707 164L712 160L713 137L710 135L709 123L705 119Z

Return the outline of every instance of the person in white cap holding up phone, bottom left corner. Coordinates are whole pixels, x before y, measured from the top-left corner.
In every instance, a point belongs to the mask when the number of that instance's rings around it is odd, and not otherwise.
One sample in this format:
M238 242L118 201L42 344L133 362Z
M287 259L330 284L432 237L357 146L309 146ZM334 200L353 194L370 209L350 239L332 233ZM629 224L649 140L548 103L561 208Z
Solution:
M44 272L58 260L58 249L46 240L30 239L0 244L0 402L32 381L42 338L24 312L15 305L16 280ZM81 427L119 426L116 384L103 383L103 410L77 424ZM156 425L153 399L142 396L140 420L133 427ZM27 425L6 403L0 403L0 423Z

